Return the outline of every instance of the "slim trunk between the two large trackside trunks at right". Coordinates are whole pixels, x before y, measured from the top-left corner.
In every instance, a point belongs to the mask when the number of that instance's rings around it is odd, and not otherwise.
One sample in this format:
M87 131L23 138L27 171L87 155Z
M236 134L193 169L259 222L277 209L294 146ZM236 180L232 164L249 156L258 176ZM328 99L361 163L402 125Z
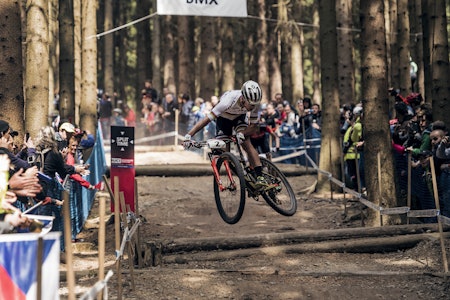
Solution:
M354 103L355 74L353 64L353 20L352 1L336 1L336 21L338 26L338 78L339 97L344 103Z

